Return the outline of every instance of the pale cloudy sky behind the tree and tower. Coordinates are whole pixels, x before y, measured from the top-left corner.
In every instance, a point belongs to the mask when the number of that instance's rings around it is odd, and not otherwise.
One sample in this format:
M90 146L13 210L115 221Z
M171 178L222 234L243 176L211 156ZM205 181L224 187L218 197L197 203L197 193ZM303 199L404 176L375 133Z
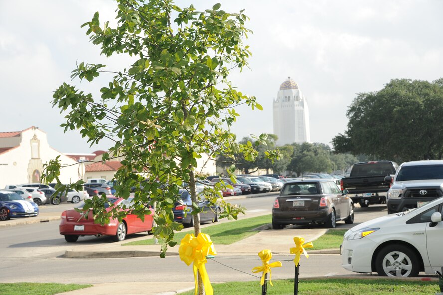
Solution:
M227 12L245 9L253 31L245 40L252 51L249 68L230 80L264 109L236 108L240 117L232 132L239 140L273 132L272 101L288 76L308 101L311 141L329 145L346 130L346 111L357 93L378 91L391 79L443 77L440 0L175 1L197 10L217 2ZM76 62L115 70L132 63L123 55L100 56L80 28L96 11L101 24L112 25L115 9L111 0L0 0L0 132L36 126L63 153L111 146L103 141L90 147L78 131L64 133L66 114L52 108L51 100L63 82L93 95L107 84L71 81Z

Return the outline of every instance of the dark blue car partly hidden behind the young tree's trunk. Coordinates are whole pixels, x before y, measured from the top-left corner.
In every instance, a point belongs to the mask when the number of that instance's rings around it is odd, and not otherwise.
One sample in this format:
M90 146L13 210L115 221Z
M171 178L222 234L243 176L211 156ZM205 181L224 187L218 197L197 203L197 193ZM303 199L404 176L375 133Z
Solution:
M191 194L187 190L179 190L180 200L174 204L175 208L174 212L174 221L183 223L188 226L194 225L194 216L191 215ZM219 221L219 206L208 206L208 201L199 200L197 205L202 208L202 212L200 212L200 221L211 221L218 222Z

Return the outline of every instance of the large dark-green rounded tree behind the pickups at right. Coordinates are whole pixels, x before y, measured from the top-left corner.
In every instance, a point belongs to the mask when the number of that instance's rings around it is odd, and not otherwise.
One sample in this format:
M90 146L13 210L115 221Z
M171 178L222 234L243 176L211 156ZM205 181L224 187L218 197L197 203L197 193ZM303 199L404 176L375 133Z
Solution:
M337 152L375 159L441 159L443 79L391 80L378 92L361 93L346 113L344 134L333 138Z

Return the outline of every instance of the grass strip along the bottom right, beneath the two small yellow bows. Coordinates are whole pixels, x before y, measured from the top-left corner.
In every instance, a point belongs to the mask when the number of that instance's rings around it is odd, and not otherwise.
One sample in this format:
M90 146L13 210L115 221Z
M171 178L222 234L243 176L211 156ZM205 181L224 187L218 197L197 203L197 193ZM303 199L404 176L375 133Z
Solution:
M268 295L294 294L294 280L272 280ZM260 281L211 284L215 295L261 294ZM299 295L433 295L439 291L436 282L388 279L301 279ZM194 290L180 295L193 295Z

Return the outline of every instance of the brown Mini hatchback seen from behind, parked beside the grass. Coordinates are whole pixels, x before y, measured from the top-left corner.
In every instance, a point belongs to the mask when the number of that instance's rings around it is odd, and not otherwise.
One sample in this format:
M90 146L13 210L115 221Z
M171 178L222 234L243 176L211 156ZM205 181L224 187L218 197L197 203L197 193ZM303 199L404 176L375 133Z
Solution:
M354 204L331 179L306 179L285 183L272 207L272 228L288 224L323 223L335 228L338 220L354 223Z

